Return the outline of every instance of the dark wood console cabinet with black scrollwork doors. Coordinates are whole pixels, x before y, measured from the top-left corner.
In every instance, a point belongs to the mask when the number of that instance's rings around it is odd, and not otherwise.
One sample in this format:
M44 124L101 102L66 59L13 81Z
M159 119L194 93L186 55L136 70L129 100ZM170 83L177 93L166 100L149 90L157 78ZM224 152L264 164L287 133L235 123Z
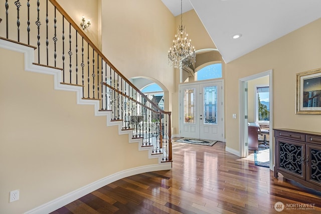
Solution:
M275 138L274 177L285 178L321 191L321 133L273 129Z

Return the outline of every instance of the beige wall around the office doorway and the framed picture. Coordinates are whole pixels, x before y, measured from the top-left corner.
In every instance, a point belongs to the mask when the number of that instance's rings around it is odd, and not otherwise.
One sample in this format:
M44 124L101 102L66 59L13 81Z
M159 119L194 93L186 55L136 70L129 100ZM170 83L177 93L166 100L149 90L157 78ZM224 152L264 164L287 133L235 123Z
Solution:
M321 67L321 19L226 66L226 145L239 150L239 79L273 70L273 127L321 132L321 115L295 114L296 73Z

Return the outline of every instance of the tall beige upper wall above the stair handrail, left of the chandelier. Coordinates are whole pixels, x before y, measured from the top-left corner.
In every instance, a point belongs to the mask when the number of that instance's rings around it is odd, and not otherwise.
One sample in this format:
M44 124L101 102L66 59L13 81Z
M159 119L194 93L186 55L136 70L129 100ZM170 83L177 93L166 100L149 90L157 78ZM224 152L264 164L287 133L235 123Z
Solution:
M168 65L174 17L162 1L102 1L103 54L125 77L147 77L175 90Z

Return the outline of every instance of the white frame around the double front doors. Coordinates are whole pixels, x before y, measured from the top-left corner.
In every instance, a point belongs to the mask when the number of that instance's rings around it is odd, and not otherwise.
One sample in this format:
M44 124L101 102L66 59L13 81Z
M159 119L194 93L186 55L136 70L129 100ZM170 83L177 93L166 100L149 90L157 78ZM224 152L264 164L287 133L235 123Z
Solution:
M221 82L222 83L222 141L225 141L225 108L224 108L224 79L214 79L214 80L201 80L197 82L189 82L189 83L181 83L179 84L179 135L181 135L181 92L180 92L180 87L182 85L200 85L204 83L215 83L215 82Z

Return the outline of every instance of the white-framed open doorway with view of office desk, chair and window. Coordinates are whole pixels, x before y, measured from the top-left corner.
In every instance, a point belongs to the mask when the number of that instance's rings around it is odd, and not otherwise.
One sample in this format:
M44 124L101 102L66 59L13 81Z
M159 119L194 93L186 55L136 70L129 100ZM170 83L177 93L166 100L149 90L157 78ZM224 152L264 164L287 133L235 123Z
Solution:
M269 149L269 167L272 169L272 70L242 78L239 82L240 156L247 157L249 149L258 150L258 145L262 147L263 144ZM261 132L260 125L267 127L265 130L268 134ZM257 134L250 129L254 129Z

